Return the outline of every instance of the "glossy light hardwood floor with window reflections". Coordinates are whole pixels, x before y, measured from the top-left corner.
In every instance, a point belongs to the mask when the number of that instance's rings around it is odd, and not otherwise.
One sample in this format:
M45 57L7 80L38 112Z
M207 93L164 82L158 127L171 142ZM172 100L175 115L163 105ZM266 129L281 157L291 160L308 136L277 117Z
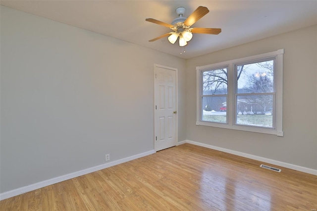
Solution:
M183 144L0 201L1 211L317 209L317 176Z

